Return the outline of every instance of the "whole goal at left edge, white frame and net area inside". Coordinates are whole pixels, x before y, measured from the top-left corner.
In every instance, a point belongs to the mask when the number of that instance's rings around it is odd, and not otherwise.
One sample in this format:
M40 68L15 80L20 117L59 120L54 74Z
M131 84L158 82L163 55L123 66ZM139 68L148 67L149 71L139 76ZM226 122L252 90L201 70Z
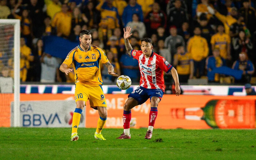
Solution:
M20 20L0 19L0 127L19 126L20 101Z

